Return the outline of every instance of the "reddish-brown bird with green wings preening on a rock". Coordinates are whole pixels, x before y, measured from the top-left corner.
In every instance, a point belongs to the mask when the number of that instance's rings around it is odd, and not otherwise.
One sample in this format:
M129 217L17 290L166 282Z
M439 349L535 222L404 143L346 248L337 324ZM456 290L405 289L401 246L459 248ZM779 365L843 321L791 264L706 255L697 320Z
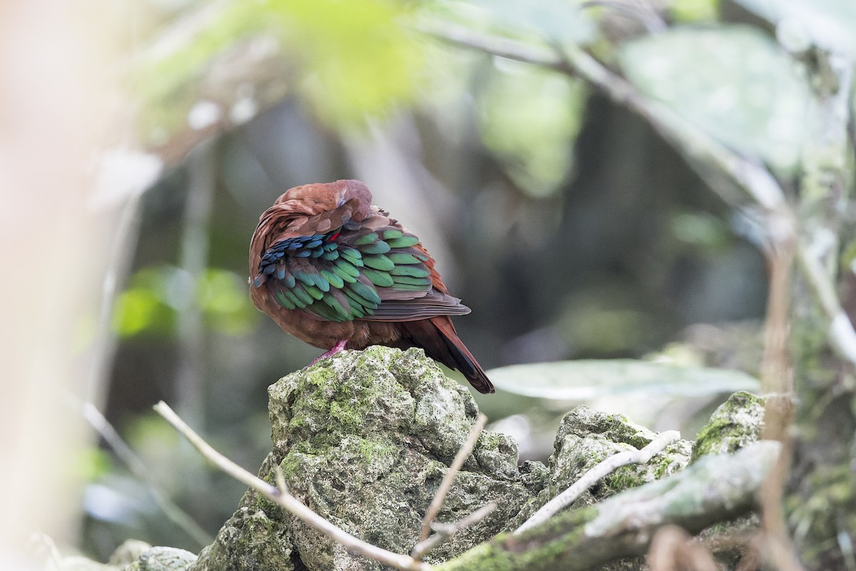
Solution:
M325 349L418 347L480 393L493 384L455 331L470 308L449 294L413 233L361 181L289 188L250 242L250 298L282 330Z

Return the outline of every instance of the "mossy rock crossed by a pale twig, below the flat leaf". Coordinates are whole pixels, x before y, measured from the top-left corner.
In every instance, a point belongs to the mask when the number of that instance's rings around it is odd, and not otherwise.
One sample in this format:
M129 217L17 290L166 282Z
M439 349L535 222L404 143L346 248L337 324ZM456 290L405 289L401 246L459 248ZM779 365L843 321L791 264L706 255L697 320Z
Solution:
M553 455L550 456L549 476L544 489L515 518L520 524L544 503L574 484L583 473L612 455L642 449L657 434L637 425L622 414L601 413L580 405L562 417ZM687 467L692 443L679 440L670 444L647 464L631 464L618 468L572 504L573 508L596 503L620 491L661 479Z

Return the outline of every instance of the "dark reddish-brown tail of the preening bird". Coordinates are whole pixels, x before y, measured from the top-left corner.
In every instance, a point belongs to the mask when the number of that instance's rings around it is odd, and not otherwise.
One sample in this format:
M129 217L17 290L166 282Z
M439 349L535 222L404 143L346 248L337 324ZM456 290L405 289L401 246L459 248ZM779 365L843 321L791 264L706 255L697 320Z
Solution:
M425 354L431 359L438 360L450 369L457 369L463 373L475 390L484 394L494 391L493 384L484 374L479 361L473 357L458 337L455 324L452 324L449 316L404 321L399 326L413 345L425 349Z

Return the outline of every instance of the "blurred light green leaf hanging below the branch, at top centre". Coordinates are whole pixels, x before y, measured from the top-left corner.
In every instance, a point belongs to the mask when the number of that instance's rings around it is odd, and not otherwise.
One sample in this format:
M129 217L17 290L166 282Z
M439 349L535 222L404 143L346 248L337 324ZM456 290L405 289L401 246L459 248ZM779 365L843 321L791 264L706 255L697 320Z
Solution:
M479 98L482 140L526 192L549 195L568 175L584 94L579 82L522 63L491 74Z

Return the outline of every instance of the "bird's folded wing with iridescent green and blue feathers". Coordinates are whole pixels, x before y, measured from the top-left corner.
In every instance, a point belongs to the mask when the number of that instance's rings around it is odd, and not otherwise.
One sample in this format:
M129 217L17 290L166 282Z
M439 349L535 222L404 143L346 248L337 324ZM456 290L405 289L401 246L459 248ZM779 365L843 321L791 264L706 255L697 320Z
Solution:
M386 212L374 209L355 222L338 210L271 238L253 287L269 288L285 309L330 321L413 321L470 311L446 293L419 239Z

